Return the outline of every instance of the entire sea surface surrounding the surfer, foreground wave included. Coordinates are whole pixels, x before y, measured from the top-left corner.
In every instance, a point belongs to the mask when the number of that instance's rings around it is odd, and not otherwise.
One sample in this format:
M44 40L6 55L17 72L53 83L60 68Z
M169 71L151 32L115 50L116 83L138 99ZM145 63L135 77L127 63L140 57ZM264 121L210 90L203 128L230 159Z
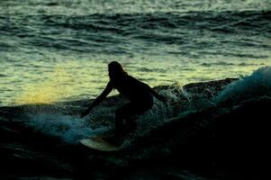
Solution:
M270 137L261 136L268 131L261 113L268 113L271 101L270 32L270 0L0 1L0 178L105 178L108 165L112 174L117 166L131 166L138 172L131 173L134 179L210 179L204 171L213 179L258 177L264 165L259 160L268 154L261 147ZM157 86L168 101L154 99L126 137L122 156L98 156L106 165L93 169L95 153L82 153L78 140L113 130L114 111L124 101L113 96L86 118L77 114L104 89L112 60ZM223 80L210 81L217 79ZM221 155L231 150L229 167L238 168L228 172L220 166L228 157ZM157 167L158 157L174 152L181 167ZM132 163L140 159L152 159L156 170L150 165L140 172L140 164ZM191 163L199 164L199 175ZM72 167L79 164L91 166L76 172Z

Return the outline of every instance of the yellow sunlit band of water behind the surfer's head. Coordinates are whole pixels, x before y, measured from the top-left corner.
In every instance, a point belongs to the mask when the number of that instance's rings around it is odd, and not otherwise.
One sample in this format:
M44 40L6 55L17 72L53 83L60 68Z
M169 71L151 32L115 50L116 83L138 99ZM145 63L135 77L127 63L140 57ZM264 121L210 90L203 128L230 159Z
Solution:
M149 61L140 64L137 60L136 58L129 63L125 59L119 61L131 76L139 78L151 87L172 85L176 82L186 85L225 77L249 76L258 67L271 65L271 59L258 64L251 59L244 65L241 63L224 65L214 60L206 61L204 64L175 64L168 63L168 60L158 60L158 58L149 58ZM11 105L18 105L93 99L102 93L109 80L107 75L109 61L63 59L54 64L36 62L34 68L29 66L16 71L14 68L6 69L6 74L13 75L2 77L6 79L6 82L10 82L5 85L13 90L5 92L8 96L7 104L9 102ZM15 85L13 83L15 81L19 84ZM113 94L118 94L118 92L113 91L109 95Z

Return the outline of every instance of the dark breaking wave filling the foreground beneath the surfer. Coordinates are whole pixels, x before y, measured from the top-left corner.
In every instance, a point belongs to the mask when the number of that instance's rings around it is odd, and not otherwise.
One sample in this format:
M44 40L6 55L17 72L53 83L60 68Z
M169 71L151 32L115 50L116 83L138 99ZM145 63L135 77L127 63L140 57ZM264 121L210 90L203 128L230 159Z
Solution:
M114 111L127 102L120 95L106 98L86 119L78 118L77 113L85 110L87 104L91 103L89 100L2 106L0 133L5 139L0 139L0 146L7 159L31 162L30 165L36 165L36 169L39 166L60 169L59 175L61 172L65 175L75 173L71 166L77 166L81 158L85 159L87 166L106 165L114 169L117 166L134 168L140 163L148 163L150 166L157 160L163 162L163 165L167 161L172 165L174 161L179 166L193 166L194 172L197 172L196 169L200 169L200 172L208 169L216 179L224 179L225 174L230 178L239 178L240 174L246 175L248 168L252 168L257 175L262 175L254 165L259 165L257 160L262 159L257 155L266 156L265 152L256 153L249 159L242 153L251 144L266 149L266 144L261 143L262 140L266 142L266 137L269 137L266 136L266 120L258 115L267 114L271 104L270 70L271 67L261 67L250 76L239 79L226 78L184 86L173 84L155 87L159 94L167 96L168 101L160 103L155 100L154 106L138 117L138 129L127 137L122 155L101 155L88 151L89 149L85 151L77 143L78 139L113 129ZM251 131L257 133L251 134ZM76 161L71 156L75 153L79 156ZM221 156L224 153L230 153L230 158ZM13 154L18 156L13 157ZM86 160L90 155L91 158ZM40 157L49 158L50 161L44 162ZM36 160L33 161L33 158ZM66 159L65 162L62 162L63 158ZM214 164L223 169L224 173L213 170ZM22 170L20 164L17 165ZM237 174L232 173L235 167L239 171ZM106 172L103 171L104 175L111 171L111 167L108 168ZM140 167L137 168L140 172ZM80 174L97 175L97 171L101 170L97 169L98 167L93 171L82 169ZM229 174L227 169L230 169ZM164 171L160 173L162 172ZM182 175L184 173L182 169L178 172ZM151 174L149 171L145 173ZM164 173L168 174L167 171ZM184 175L188 175L187 178L197 178L190 174Z

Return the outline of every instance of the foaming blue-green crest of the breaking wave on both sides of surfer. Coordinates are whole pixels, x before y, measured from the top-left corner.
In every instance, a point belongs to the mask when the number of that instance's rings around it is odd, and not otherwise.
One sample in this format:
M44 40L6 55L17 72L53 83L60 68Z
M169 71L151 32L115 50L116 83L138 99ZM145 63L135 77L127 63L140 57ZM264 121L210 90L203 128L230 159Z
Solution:
M176 118L184 118L185 114L191 112L225 104L233 107L250 99L271 96L271 67L261 67L250 76L243 76L238 80L227 78L184 86L161 85L155 87L155 90L166 95L168 101L160 103L155 99L154 106L138 117L137 134L140 136ZM95 107L86 119L78 118L77 114L90 102L82 100L49 105L2 107L0 112L2 117L8 113L13 114L8 117L19 117L27 127L77 144L79 139L112 130L114 111L126 100L119 95L108 97L104 103Z

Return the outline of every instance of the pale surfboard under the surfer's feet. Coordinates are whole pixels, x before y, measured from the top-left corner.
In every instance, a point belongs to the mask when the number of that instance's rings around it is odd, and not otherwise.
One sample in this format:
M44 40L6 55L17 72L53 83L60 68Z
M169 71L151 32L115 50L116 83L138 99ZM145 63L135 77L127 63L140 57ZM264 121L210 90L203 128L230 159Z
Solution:
M79 142L86 146L87 148L93 148L95 150L101 151L119 151L122 149L122 146L115 146L104 141L103 137L93 137L87 139L80 139Z

